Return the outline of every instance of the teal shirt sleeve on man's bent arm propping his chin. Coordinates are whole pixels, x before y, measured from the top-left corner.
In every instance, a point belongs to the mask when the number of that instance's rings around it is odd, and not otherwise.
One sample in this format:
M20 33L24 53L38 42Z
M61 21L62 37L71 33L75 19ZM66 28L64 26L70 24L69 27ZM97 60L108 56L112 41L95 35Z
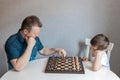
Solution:
M20 51L17 50L17 47L15 46L15 44L12 44L12 45L6 44L5 51L6 51L8 60L17 59L20 56Z

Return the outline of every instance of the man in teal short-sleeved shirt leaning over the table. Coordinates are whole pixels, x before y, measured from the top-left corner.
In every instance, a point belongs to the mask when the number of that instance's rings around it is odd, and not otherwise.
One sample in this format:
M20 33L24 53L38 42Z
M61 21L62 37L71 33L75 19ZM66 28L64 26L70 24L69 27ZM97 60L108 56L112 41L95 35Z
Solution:
M42 24L36 16L26 17L18 33L10 36L5 44L9 69L21 71L31 60L35 60L37 52L43 55L59 53L66 56L66 51L60 48L45 48L38 34Z

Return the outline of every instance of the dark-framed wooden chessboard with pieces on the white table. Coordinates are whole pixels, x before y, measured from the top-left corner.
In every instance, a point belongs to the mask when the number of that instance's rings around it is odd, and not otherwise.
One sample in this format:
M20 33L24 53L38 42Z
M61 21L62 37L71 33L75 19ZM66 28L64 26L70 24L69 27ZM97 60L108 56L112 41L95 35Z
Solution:
M80 57L49 57L45 73L74 73L84 74Z

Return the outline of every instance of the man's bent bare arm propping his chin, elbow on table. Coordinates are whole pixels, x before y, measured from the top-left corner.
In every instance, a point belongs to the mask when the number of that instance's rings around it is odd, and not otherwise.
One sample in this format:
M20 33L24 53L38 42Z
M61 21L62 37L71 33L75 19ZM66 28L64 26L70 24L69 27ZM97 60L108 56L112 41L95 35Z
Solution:
M28 44L28 46L27 46L25 52L23 53L23 55L21 57L19 57L18 59L12 59L10 61L16 71L21 71L28 63L29 58L32 53L32 49L35 45L35 39L29 38L27 41L27 44Z

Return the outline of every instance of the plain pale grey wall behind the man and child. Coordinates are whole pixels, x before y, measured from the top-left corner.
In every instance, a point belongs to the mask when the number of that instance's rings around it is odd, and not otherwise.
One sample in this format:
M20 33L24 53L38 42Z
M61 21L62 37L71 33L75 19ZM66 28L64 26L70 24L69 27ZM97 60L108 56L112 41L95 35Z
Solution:
M120 0L0 0L0 76L6 71L3 45L29 15L43 23L39 37L44 46L64 48L69 56L78 55L79 42L86 37L106 34L115 43L110 63L119 75L119 7Z

